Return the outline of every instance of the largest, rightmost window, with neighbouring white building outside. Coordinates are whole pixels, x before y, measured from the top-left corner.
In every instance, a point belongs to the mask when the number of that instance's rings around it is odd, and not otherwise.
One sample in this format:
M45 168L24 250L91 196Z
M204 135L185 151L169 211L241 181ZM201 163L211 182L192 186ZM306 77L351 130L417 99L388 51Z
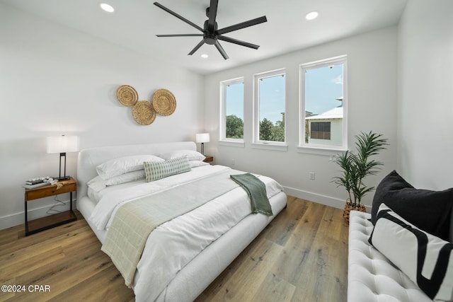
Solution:
M299 146L348 148L346 56L300 66Z

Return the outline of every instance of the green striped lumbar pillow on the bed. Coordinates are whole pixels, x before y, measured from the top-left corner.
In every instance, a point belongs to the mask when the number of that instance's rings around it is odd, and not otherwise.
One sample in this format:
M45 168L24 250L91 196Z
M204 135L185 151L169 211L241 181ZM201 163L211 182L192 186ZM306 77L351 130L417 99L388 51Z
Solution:
M147 182L190 171L187 156L169 159L168 161L145 161L143 166Z

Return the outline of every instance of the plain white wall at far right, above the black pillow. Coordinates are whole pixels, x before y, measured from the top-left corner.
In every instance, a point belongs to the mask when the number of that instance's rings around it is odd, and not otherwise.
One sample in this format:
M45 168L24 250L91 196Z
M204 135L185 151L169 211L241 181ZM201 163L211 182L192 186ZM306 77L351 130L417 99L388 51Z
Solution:
M452 187L453 1L408 1L398 32L398 171Z

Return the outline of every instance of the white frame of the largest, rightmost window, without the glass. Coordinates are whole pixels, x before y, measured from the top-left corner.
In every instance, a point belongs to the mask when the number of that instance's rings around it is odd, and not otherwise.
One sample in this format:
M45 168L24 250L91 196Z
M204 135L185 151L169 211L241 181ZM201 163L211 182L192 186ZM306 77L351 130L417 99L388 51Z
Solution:
M343 145L307 144L305 142L305 71L306 69L316 69L332 64L343 64ZM338 57L300 64L299 81L299 146L297 151L333 156L338 151L348 150L348 56L344 54Z

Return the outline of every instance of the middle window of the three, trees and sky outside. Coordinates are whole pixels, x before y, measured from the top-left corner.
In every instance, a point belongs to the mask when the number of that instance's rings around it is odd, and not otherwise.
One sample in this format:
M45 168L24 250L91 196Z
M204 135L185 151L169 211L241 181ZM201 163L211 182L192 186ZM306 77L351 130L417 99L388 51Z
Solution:
M255 143L285 144L285 70L254 76Z

